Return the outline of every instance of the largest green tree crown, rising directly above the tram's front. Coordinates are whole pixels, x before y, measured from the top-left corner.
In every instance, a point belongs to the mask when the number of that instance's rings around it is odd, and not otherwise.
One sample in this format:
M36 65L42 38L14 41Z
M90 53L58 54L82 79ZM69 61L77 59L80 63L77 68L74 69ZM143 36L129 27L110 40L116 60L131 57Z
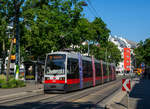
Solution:
M21 48L24 56L37 58L77 45L83 39L78 26L82 6L77 0L26 0L22 10Z

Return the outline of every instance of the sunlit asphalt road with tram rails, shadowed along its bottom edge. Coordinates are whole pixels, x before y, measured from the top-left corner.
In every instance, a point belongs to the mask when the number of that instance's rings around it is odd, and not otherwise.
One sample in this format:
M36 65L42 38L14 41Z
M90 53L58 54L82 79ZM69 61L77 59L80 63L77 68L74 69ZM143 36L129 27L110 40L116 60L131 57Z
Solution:
M0 109L103 109L99 104L120 88L121 80L117 79L66 94L30 93L0 100Z

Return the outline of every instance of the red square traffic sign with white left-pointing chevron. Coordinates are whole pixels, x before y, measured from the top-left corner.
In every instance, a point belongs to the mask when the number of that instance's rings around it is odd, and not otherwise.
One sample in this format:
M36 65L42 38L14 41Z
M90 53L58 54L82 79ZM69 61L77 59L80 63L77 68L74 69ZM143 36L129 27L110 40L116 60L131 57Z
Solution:
M130 79L122 79L122 91L130 91L131 90L131 81Z

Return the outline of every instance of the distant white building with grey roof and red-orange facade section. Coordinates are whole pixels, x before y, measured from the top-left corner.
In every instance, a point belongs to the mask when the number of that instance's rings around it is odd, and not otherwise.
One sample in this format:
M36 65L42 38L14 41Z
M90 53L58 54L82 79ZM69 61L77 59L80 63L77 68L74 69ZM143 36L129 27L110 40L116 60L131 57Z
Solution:
M133 50L136 48L137 43L127 40L122 37L111 36L109 41L117 45L118 49L121 51L122 62L116 67L118 73L132 72L135 66L135 58Z

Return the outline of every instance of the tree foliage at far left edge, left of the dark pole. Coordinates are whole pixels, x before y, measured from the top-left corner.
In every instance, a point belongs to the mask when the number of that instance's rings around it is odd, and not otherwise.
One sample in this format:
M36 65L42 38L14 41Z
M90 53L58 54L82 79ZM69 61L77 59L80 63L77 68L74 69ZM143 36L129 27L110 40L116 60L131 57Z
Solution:
M4 72L5 58L9 49L10 24L12 23L12 7L10 0L0 1L0 58L2 58L2 73Z

